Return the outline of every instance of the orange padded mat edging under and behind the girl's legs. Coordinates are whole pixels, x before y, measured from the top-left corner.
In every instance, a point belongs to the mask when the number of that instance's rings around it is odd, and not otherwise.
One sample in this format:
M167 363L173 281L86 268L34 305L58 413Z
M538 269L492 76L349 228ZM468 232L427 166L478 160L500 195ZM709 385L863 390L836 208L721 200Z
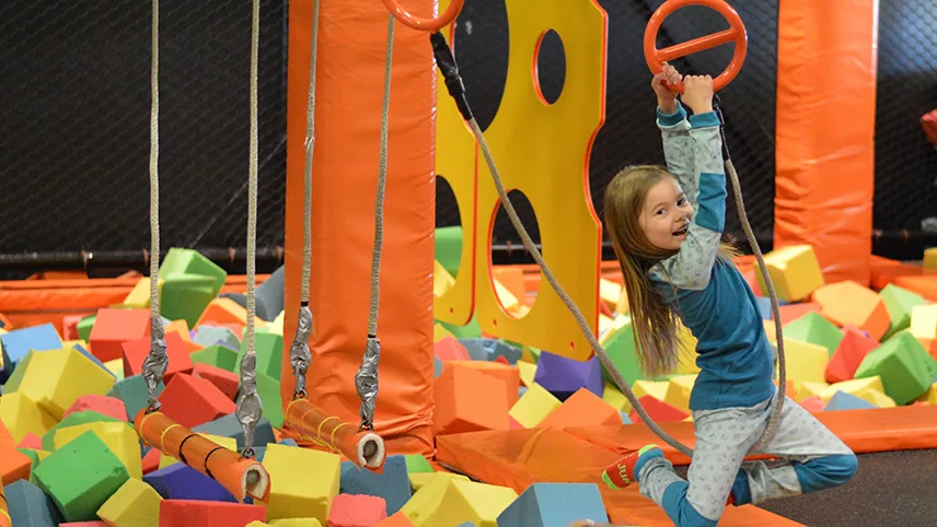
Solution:
M856 454L937 448L937 407L843 410L814 415ZM693 423L661 423L661 429L691 448L695 444ZM597 483L612 522L672 525L663 511L636 489L612 492L601 482L602 470L609 464L648 443L661 445L664 456L675 465L690 461L645 424L443 435L437 438L437 459L455 471L517 492L536 482ZM743 506L727 508L719 525L799 524Z

